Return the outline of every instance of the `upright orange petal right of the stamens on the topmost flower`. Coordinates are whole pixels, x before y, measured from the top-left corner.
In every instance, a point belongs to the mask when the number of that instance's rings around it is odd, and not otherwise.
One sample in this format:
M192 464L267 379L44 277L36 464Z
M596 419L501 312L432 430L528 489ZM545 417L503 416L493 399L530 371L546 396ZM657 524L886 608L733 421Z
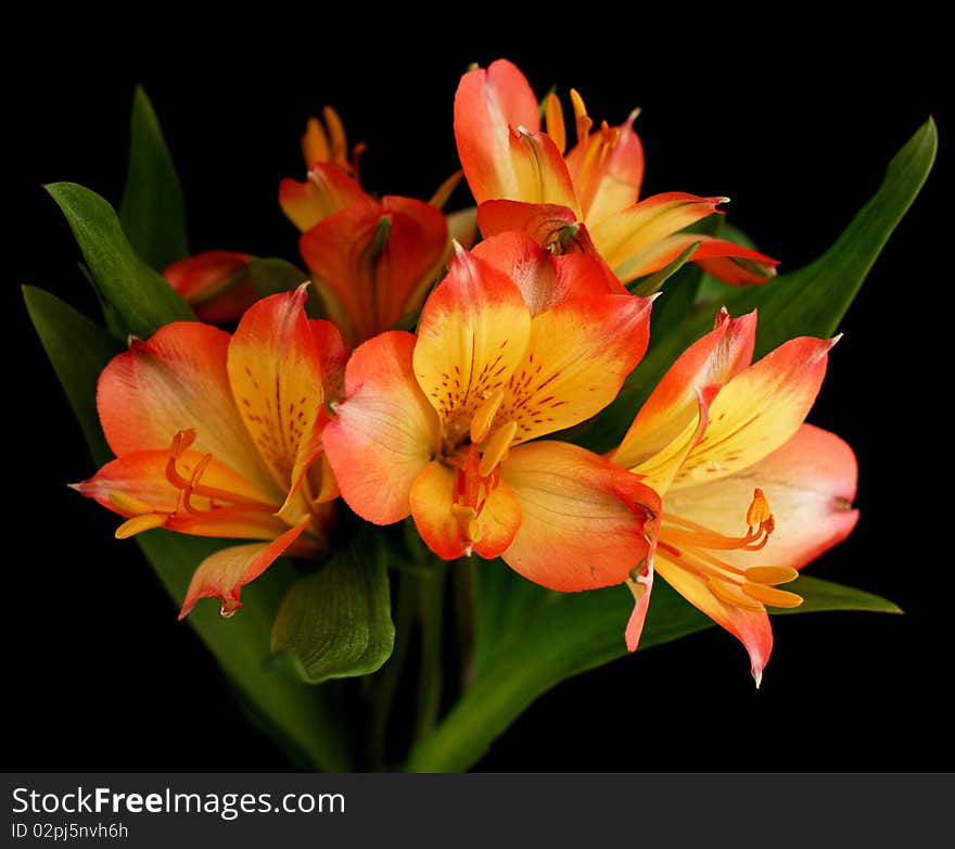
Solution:
M633 206L644 180L644 147L633 118L591 132L568 153L566 164L589 225Z

